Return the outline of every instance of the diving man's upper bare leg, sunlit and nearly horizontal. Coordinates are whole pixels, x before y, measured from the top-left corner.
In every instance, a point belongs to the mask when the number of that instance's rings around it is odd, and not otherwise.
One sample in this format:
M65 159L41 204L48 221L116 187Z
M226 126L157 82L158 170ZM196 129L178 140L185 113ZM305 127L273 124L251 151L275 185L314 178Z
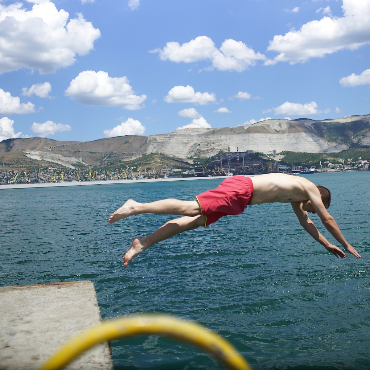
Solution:
M113 212L108 220L110 224L132 215L140 213L157 213L164 215L198 216L201 209L197 201L180 201L179 199L162 199L150 203L139 203L132 199L117 211Z

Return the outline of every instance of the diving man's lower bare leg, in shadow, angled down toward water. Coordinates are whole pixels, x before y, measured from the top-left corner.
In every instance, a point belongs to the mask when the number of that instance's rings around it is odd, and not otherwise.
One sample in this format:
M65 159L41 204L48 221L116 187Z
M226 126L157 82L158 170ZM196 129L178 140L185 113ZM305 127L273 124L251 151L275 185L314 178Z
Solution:
M145 236L144 238L135 238L132 241L130 249L123 257L124 266L127 267L127 264L132 260L132 258L138 256L141 252L144 252L145 249L149 248L153 244L171 238L171 236L177 235L183 231L194 230L199 226L204 225L204 223L204 216L184 216L166 222L157 231L148 236Z

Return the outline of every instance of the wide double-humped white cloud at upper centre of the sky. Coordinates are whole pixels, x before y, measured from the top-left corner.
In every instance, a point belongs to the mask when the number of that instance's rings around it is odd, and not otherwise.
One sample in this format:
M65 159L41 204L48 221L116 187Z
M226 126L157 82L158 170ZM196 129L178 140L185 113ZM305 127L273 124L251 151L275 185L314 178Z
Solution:
M223 41L218 49L212 39L207 36L198 36L182 45L177 41L171 41L166 43L163 49L155 49L151 53L159 53L161 60L176 63L209 60L212 65L208 69L216 68L220 71L241 72L255 65L259 60L266 60L265 55L255 53L242 41L228 39Z

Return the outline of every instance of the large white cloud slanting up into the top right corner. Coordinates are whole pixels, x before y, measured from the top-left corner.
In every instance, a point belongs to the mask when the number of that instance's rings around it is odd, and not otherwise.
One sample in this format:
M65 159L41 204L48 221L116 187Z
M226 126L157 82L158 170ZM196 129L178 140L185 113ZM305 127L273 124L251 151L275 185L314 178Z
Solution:
M300 30L291 30L274 36L268 50L279 53L268 64L277 62L303 63L343 49L356 50L370 43L370 0L343 0L343 17L329 16L304 24ZM325 13L330 8L324 8ZM328 13L330 14L330 13Z

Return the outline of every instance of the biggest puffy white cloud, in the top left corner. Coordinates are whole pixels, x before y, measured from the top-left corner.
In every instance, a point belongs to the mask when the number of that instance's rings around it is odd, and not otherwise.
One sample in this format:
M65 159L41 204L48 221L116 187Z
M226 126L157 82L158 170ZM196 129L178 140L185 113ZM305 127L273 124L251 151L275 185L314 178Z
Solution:
M100 31L78 13L57 10L49 0L34 0L31 10L21 3L0 3L0 73L20 68L53 73L85 55L100 37Z

